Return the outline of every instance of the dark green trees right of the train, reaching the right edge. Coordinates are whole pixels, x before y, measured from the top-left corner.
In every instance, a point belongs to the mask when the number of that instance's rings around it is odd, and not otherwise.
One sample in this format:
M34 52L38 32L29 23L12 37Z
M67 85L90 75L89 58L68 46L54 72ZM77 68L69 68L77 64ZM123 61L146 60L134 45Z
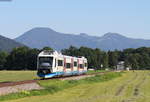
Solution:
M62 50L63 54L70 56L85 56L88 59L89 68L116 69L120 61L124 61L124 66L134 70L150 69L150 48L141 47L137 49L129 48L123 51L102 51L98 48L87 47L76 48L71 46L69 49Z

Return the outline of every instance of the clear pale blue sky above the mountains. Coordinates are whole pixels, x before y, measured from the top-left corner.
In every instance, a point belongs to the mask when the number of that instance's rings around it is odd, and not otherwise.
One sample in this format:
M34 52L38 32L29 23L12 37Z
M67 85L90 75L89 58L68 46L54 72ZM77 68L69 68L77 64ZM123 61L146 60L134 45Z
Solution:
M16 38L34 27L150 39L150 0L0 0L0 35Z

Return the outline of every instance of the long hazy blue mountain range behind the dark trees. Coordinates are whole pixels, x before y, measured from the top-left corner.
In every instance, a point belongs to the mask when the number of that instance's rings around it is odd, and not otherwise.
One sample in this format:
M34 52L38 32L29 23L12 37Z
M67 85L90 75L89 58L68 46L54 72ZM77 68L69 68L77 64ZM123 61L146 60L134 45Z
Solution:
M17 37L16 41L31 48L52 47L56 50L68 48L70 45L102 50L123 50L125 48L150 47L150 40L132 39L117 33L106 33L101 37L89 36L81 33L79 35L56 32L50 28L33 28L23 35Z

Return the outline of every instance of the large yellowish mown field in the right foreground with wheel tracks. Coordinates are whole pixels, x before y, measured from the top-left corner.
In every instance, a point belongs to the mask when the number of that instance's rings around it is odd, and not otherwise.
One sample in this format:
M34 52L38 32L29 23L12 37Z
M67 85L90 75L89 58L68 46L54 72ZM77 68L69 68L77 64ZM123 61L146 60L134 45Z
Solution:
M7 102L150 102L150 71L126 72L113 80Z

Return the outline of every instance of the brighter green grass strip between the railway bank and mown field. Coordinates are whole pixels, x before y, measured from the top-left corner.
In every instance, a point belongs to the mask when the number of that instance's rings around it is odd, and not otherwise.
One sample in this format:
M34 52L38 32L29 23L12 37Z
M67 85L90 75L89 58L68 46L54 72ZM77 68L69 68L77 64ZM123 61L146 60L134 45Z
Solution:
M18 98L24 98L28 96L41 96L47 94L53 94L58 91L74 87L76 85L81 84L92 84L98 82L104 82L108 80L112 80L114 78L120 77L123 72L109 72L103 75L96 75L94 77L88 77L81 80L42 80L38 83L44 87L42 90L32 90L32 91L22 91L20 93L13 93L5 96L0 96L0 101L12 100Z

